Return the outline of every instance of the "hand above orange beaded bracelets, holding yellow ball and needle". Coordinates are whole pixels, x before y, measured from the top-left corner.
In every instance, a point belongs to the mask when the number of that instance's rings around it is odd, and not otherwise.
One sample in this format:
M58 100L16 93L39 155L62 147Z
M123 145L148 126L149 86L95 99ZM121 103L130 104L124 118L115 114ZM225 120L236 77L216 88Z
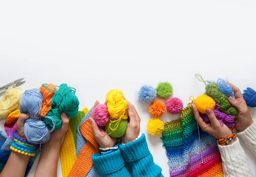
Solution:
M231 128L228 128L226 125L221 125L221 123L218 121L218 119L215 117L215 114L211 109L207 109L207 115L209 117L209 120L211 123L204 122L203 118L200 116L198 109L195 105L192 105L195 120L198 122L198 125L202 128L203 131L206 131L207 133L211 134L217 139L221 138L227 138L232 134ZM234 141L231 141L229 144L233 143Z

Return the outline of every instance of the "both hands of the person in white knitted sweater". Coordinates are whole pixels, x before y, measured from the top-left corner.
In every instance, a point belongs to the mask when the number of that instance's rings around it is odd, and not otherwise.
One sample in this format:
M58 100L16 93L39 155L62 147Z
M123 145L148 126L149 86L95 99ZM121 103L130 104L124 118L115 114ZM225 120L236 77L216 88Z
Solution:
M239 111L238 121L235 124L235 128L238 132L241 132L251 126L253 124L253 120L240 89L230 82L227 82L227 84L233 87L235 99L233 97L229 97L229 101ZM202 117L200 117L197 107L192 105L192 108L195 114L195 120L203 131L206 131L217 139L227 138L232 134L231 128L228 128L226 125L221 125L211 109L207 109L207 115L211 123L206 123ZM230 144L231 143L232 141Z

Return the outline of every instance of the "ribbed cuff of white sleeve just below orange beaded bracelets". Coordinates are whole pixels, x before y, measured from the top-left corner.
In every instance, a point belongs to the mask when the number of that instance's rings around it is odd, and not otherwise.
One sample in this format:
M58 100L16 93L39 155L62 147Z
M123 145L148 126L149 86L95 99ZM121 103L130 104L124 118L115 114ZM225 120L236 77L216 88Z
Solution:
M240 145L238 138L236 138L236 142L231 145L221 146L218 144L218 148L221 153L221 158L224 159L231 159L232 157L237 157L239 154L244 154L244 149Z

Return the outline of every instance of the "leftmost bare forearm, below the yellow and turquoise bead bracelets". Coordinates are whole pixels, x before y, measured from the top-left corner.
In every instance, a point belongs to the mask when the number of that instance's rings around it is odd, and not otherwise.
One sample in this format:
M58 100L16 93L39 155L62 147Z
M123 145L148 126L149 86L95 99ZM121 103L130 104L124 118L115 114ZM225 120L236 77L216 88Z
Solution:
M29 159L28 155L12 151L0 177L24 177Z

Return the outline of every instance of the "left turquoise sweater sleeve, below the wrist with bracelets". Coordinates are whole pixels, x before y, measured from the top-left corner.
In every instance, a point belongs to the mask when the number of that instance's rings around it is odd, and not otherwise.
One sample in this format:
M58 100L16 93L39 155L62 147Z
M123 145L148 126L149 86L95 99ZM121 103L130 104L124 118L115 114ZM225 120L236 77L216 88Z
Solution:
M96 153L92 160L102 177L131 177L120 149L102 156Z

